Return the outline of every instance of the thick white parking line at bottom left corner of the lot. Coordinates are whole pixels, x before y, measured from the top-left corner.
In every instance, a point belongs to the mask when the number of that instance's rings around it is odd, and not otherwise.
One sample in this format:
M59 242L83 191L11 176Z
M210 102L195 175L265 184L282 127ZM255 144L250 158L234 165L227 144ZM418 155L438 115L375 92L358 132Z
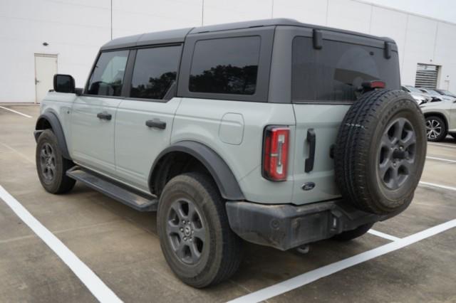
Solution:
M83 282L89 291L98 299L100 302L122 302L115 295L115 293L103 283L90 268L84 264L79 258L69 250L61 240L51 233L46 227L44 227L35 217L29 213L24 206L19 203L13 196L11 196L5 188L0 185L0 198L21 218L21 220L28 225L33 233L36 233L41 240L48 245L51 250L56 252L56 255L70 267L74 274Z

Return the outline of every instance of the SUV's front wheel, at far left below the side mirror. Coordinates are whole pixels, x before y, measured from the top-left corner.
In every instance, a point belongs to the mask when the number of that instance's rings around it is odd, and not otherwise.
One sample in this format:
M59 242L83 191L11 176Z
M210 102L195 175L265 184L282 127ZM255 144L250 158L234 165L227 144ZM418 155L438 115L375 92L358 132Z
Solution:
M67 193L76 181L66 176L66 171L74 166L73 161L63 158L57 137L51 129L46 129L36 143L36 171L41 185L49 193Z

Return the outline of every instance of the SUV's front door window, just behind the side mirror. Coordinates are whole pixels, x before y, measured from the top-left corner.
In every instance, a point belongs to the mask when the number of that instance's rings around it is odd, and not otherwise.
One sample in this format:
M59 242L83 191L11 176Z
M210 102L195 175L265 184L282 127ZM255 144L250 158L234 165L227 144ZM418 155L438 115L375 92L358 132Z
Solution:
M88 83L89 95L120 96L128 50L101 53Z

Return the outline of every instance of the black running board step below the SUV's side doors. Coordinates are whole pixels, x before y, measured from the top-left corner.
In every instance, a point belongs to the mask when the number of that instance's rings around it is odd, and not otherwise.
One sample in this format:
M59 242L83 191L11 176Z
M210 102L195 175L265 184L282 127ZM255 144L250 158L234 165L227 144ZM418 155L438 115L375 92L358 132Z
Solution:
M75 166L68 169L66 175L138 211L157 211L158 200L155 196L137 192L92 171Z

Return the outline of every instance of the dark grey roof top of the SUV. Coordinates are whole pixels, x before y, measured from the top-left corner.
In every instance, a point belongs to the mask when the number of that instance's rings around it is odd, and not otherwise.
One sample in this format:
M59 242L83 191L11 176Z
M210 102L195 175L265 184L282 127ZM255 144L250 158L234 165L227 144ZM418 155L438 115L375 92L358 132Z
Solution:
M148 46L152 44L170 44L182 43L185 41L187 35L195 33L207 33L215 31L229 31L243 28L257 28L262 26L299 26L305 28L315 28L324 31L333 31L337 33L346 33L349 35L361 36L372 38L375 40L388 41L394 43L390 38L371 36L366 33L358 33L355 31L344 31L338 28L329 28L326 26L316 26L307 23L301 23L294 19L288 18L274 18L256 21L244 21L236 23L224 23L211 26L199 26L195 28L181 28L172 31L157 31L153 33L142 33L135 36L126 36L122 38L115 38L101 47L101 50L110 50L115 48L130 48L135 46Z

